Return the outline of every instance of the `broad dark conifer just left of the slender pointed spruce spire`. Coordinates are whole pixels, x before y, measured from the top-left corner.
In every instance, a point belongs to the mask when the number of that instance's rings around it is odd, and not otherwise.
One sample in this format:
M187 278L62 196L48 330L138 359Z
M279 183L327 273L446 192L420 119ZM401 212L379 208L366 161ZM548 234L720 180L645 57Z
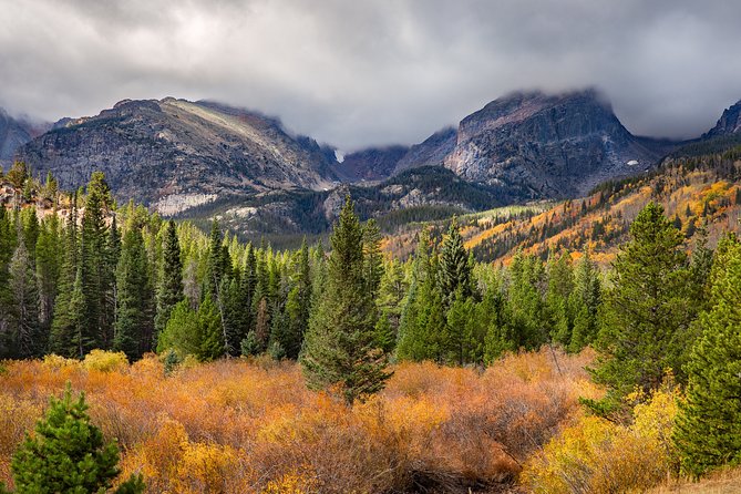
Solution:
M113 349L136 360L152 348L154 326L152 282L138 225L130 222L116 267L117 307Z

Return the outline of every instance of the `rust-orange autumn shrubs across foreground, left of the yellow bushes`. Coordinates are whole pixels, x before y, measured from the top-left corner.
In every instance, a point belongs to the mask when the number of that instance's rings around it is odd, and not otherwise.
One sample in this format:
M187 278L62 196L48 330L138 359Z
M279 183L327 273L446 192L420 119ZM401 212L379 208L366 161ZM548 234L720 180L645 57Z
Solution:
M0 481L25 431L68 381L122 450L122 477L147 492L486 492L510 484L536 451L599 395L590 354L542 351L486 370L397 366L384 391L352 408L308 391L295 363L235 359L128 366L48 357L0 375ZM95 364L91 362L95 361ZM556 366L556 361L558 366Z

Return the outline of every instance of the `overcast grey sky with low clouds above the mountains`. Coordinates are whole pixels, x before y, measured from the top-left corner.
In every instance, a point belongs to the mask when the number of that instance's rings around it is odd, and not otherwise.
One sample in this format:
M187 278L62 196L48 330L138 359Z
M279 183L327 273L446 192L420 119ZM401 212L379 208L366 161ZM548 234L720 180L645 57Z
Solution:
M686 137L741 99L737 0L0 0L0 106L58 120L213 99L351 151L517 89L597 86Z

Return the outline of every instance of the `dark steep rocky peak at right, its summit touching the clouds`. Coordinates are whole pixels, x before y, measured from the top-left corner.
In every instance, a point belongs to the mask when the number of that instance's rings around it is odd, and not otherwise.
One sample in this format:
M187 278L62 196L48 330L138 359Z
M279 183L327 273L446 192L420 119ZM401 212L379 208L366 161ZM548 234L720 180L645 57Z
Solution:
M514 93L461 122L444 166L467 181L559 198L644 171L672 148L630 134L593 90Z

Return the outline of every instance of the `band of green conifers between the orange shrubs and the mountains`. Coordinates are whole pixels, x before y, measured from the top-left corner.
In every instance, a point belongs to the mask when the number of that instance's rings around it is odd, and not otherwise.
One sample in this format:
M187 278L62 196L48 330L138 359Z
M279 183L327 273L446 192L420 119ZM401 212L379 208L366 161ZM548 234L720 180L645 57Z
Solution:
M741 461L741 246L729 234L713 251L700 235L688 255L657 204L607 272L586 251L476 263L456 220L440 243L423 230L401 263L382 255L378 226L360 223L350 197L328 251L306 241L274 251L216 219L206 236L116 207L100 173L66 212L62 223L0 208L3 358L100 348L176 364L267 353L299 360L309 387L351 404L382 389L394 360L485 366L522 349L591 346L591 375L608 390L585 401L594 413L625 415L627 395L670 379L688 393L676 440L686 470Z

